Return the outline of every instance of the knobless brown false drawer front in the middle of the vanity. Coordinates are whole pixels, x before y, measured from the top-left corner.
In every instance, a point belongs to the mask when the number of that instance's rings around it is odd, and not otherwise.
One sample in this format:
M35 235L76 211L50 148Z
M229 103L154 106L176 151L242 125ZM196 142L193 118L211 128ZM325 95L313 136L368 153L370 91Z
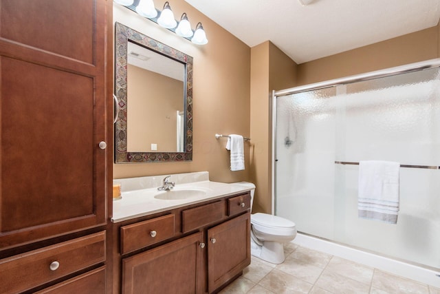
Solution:
M181 212L181 231L186 233L206 226L212 222L223 220L225 204L214 202Z

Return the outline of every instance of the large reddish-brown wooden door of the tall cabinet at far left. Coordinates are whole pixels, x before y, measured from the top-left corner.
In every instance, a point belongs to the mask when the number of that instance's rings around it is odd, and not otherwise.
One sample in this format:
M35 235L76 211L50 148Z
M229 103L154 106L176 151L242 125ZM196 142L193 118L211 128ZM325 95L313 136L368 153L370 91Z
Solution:
M2 249L106 222L107 13L0 0Z

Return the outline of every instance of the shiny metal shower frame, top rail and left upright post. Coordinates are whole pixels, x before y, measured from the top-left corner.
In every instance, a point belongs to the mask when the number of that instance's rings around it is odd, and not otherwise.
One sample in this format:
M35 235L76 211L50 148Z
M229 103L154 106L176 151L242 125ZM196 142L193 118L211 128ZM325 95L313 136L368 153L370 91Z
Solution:
M319 90L326 87L335 87L338 85L347 85L349 83L356 83L361 81L369 81L374 78L384 78L386 76L395 76L397 74L406 74L408 72L416 72L419 70L428 70L430 68L440 67L440 59L429 59L417 63L410 63L407 65L400 65L397 67L390 67L384 70L377 70L374 72L367 72L364 74L356 74L353 76L346 76L343 78L334 78L329 81L318 83L311 83L308 85L301 85L285 90L272 91L272 214L276 214L276 98L297 94L300 92L307 92L312 90Z

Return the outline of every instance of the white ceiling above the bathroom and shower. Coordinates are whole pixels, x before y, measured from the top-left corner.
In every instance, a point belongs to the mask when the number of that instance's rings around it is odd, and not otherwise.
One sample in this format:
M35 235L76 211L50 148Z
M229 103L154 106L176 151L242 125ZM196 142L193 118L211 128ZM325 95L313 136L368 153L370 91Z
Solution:
M186 2L248 46L272 41L298 64L430 28L440 17L440 0Z

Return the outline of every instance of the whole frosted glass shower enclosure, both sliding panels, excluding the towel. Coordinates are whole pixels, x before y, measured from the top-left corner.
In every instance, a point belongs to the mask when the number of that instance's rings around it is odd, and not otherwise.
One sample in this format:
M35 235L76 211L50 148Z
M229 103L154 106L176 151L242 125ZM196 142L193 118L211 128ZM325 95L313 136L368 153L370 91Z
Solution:
M439 75L391 70L275 92L275 214L307 235L440 271ZM359 166L338 162L360 160L430 167L401 167L397 224L358 218Z

